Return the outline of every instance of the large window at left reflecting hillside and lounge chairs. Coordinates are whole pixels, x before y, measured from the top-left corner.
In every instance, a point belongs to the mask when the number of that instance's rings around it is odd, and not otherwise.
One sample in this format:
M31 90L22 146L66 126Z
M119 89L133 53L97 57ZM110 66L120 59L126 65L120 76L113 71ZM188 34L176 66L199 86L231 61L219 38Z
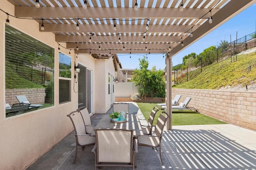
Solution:
M6 117L54 105L54 49L6 26Z

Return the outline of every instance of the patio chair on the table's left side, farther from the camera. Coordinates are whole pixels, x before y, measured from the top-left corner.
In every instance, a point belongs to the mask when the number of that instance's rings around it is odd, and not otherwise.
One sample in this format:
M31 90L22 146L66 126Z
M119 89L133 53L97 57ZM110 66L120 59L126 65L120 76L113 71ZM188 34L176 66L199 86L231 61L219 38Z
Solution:
M85 106L82 106L82 107L79 107L77 110L82 115L82 118L83 118L83 121L84 121L84 126L85 126L85 129L86 129L86 133L91 134L92 132L94 132L94 127L96 125L92 125L90 115L89 115L89 112L88 112L87 108Z

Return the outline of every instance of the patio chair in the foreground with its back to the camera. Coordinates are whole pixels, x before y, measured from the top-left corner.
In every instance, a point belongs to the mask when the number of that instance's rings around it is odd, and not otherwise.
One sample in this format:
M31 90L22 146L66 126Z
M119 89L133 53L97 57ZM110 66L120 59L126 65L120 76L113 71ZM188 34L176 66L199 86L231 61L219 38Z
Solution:
M95 134L96 144L92 149L95 154L95 170L102 166L128 166L135 169L138 149L137 140L133 142L133 130L95 129Z

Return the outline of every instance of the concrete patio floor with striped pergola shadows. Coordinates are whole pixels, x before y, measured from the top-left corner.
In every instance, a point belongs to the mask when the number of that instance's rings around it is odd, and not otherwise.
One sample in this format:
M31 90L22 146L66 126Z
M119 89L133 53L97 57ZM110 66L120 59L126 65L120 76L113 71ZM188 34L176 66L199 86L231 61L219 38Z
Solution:
M130 103L130 113L143 117L136 103ZM110 109L106 114L110 114ZM99 119L93 119L96 124ZM71 123L71 122L70 122ZM145 124L145 122L142 122ZM159 150L138 147L137 170L256 170L256 131L234 125L186 125L165 130L162 138L161 164ZM74 131L41 156L27 170L92 170L93 146L80 147L76 164ZM126 170L131 168L102 169Z

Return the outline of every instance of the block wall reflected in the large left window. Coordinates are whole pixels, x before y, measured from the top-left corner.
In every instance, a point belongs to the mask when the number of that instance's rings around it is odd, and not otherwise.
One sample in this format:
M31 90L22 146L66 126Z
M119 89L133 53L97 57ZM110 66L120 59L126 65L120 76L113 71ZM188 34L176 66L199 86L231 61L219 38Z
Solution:
M45 89L8 89L5 91L6 103L13 105L19 103L16 96L25 95L32 104L43 104Z

